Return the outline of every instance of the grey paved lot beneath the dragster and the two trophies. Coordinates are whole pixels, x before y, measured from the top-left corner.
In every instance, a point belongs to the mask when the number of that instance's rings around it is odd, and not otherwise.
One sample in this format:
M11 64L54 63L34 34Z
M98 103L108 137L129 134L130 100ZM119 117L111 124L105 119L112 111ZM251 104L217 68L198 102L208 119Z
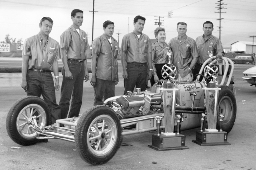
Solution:
M19 146L8 136L5 128L6 115L12 104L23 96L19 86L21 74L0 73L0 169L14 170L129 170L129 169L175 169L175 170L252 170L256 169L256 88L245 81L235 83L237 117L228 134L228 146L199 146L192 142L195 130L182 131L186 136L186 150L157 152L148 147L153 133L126 135L116 155L106 164L92 166L85 163L74 151L73 142L49 139L47 143ZM62 78L60 77L60 83ZM92 106L93 88L84 83L81 113ZM123 93L123 80L116 86L116 95ZM60 92L57 94L59 101ZM242 102L242 100L246 100ZM155 161L157 164L152 164Z

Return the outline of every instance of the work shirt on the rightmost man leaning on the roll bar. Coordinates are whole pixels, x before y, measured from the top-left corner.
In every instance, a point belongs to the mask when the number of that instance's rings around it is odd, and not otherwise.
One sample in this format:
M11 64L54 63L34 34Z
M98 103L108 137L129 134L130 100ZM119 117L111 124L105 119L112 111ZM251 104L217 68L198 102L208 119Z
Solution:
M198 36L196 38L196 43L198 52L200 54L200 57L197 61L199 64L203 64L205 60L209 58L208 52L213 52L213 56L217 55L217 53L222 53L224 55L221 40L216 36L211 35L208 39L205 40L203 34L202 36Z

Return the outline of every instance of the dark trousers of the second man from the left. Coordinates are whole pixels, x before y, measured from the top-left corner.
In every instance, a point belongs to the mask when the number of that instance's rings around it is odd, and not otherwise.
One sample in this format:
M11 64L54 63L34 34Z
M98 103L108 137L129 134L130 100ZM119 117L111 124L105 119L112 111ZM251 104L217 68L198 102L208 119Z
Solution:
M68 115L71 95L72 101L70 106L69 117L78 117L82 105L84 64L68 60L68 68L73 75L73 79L68 79L65 77L65 69L63 67L63 80L61 85L61 95L59 101L59 107L61 109L61 118L66 118Z

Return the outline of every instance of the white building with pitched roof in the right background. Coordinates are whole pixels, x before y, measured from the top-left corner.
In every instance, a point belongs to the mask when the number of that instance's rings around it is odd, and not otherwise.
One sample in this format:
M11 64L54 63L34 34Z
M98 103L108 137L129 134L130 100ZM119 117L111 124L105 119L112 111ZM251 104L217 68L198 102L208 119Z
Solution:
M244 52L246 54L256 53L256 42L252 44L249 41L236 41L231 44L232 52Z

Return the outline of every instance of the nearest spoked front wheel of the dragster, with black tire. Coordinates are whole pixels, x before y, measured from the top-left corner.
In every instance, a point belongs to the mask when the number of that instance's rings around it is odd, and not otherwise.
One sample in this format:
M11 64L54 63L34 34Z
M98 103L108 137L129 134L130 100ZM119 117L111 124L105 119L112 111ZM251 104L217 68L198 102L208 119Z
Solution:
M80 157L92 165L109 161L122 142L122 128L116 113L107 106L94 106L80 117L75 144Z

